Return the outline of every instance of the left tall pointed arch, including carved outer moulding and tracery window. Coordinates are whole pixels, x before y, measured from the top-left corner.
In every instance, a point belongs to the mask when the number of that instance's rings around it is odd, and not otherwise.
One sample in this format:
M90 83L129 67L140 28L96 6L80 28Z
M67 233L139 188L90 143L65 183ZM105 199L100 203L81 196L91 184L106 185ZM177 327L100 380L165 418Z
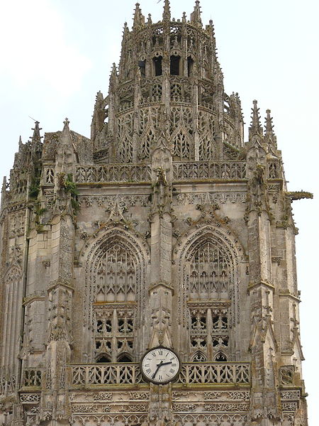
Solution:
M91 360L102 354L111 362L123 354L133 359L144 338L136 330L145 320L147 245L127 224L109 223L86 246L86 354Z

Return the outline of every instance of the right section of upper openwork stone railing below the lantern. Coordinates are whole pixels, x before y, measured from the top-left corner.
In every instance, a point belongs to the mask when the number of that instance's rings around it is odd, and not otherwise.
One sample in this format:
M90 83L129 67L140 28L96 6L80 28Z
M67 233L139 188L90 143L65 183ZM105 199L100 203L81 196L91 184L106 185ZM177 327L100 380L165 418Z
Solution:
M246 163L244 161L188 161L173 163L174 180L242 180L246 179Z

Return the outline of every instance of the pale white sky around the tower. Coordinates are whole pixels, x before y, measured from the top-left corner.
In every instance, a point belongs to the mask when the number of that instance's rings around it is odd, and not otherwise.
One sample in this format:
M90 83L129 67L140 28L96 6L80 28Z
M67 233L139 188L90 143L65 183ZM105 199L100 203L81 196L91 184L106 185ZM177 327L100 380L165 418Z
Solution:
M140 0L145 16L162 16L163 0ZM189 17L194 0L171 0L172 16ZM72 130L89 136L96 92L104 96L112 62L118 63L123 23L132 23L130 0L0 0L0 175L9 175L18 137L32 135L33 121L44 131ZM213 19L225 91L238 92L245 122L252 99L272 109L289 190L315 193L293 202L301 290L303 376L309 393L309 425L319 418L319 292L315 273L318 226L318 45L316 0L201 1L202 20ZM247 131L245 133L247 140Z

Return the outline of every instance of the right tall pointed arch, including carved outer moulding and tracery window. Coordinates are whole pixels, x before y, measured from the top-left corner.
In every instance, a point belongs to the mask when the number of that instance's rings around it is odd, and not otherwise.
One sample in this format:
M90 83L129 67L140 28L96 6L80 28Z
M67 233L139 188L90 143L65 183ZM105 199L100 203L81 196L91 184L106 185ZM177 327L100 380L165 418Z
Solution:
M177 242L174 250L178 295L178 322L188 333L181 351L191 359L198 351L208 361L219 353L229 359L232 353L232 329L239 321L239 272L242 248L220 223L196 223ZM233 343L233 345L232 345Z

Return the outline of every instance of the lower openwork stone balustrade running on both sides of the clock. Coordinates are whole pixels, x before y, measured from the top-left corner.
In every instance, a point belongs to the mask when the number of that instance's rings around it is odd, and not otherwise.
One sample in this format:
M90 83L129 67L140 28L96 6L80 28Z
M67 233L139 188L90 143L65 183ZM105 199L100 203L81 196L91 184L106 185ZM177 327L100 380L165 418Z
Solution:
M73 365L72 386L134 385L144 383L139 364ZM250 364L183 364L176 383L221 384L250 383Z

